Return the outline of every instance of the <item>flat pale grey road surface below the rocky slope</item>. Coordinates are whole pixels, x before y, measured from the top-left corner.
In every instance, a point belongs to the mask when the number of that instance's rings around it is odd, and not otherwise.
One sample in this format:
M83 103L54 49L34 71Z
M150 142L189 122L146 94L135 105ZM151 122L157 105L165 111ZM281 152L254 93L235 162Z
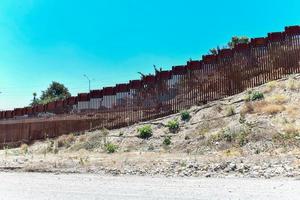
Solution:
M0 173L0 199L299 199L292 179L110 177L87 174Z

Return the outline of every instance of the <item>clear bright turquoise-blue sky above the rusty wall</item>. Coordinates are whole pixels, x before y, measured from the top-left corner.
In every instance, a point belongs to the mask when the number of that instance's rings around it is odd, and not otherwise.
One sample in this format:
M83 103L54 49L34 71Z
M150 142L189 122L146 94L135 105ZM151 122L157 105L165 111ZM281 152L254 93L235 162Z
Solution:
M0 109L53 80L73 95L170 69L233 35L300 24L299 0L1 0Z

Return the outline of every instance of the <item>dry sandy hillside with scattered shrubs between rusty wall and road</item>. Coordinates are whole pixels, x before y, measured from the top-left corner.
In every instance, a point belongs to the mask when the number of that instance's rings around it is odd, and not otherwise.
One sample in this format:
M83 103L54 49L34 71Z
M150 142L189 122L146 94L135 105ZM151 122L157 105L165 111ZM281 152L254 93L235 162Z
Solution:
M300 75L291 75L192 107L185 113L190 115L186 120L178 113L117 130L70 133L30 146L23 144L0 151L0 168L114 175L295 177L300 173L299 90ZM152 136L139 137L141 128L151 130Z

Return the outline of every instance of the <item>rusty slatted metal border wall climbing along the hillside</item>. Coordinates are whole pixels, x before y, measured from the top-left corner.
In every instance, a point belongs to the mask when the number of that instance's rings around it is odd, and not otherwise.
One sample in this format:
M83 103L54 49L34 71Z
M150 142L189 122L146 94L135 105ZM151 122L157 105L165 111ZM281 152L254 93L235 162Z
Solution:
M141 80L47 105L1 111L0 146L96 128L120 128L299 72L300 26L290 26L284 32L251 39L249 44L238 44Z

